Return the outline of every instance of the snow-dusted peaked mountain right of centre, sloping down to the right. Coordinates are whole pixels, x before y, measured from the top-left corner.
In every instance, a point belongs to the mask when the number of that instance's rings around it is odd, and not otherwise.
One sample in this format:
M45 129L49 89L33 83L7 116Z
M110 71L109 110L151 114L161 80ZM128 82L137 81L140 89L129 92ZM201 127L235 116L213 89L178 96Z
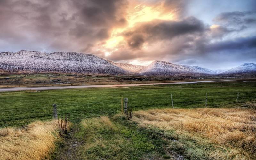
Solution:
M155 60L149 66L138 71L141 75L196 75L196 74L217 74L216 72L198 66L178 65L165 61Z

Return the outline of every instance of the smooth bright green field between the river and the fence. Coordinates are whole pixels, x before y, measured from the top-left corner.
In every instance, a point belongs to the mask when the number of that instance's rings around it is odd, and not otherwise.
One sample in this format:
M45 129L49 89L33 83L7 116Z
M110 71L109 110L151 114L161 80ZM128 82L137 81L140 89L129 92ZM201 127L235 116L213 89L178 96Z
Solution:
M121 97L128 97L133 110L171 106L175 108L209 107L256 100L256 81L226 81L198 84L132 86L120 88L86 88L44 91L0 92L0 128L23 125L34 120L52 118L52 104L58 115L70 113L71 121L86 117L114 115L121 111Z

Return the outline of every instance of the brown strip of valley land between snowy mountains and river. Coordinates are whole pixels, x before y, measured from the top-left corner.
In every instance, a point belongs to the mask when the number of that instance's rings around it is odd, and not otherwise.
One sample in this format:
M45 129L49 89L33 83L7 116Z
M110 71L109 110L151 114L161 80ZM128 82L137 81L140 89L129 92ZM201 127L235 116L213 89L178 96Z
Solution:
M237 80L253 78L256 78L255 74L209 76L138 76L79 73L8 73L0 71L0 88L95 84L143 84L180 81Z

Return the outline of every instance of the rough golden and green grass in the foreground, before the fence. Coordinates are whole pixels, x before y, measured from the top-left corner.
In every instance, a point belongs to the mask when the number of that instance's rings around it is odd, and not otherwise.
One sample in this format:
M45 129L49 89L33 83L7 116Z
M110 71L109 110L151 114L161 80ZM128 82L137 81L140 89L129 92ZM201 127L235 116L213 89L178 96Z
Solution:
M228 108L139 110L129 120L124 114L85 118L64 139L54 121L3 128L0 159L255 159L256 103L222 107Z

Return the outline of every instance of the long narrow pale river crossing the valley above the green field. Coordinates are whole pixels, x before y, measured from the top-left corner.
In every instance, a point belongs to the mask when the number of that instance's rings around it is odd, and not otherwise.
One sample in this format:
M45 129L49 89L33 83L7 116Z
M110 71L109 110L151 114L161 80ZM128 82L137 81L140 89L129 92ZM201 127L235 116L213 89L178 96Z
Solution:
M228 80L222 80L228 81ZM55 86L55 87L14 87L0 88L4 91L22 91L22 90L53 90L53 89L70 89L70 88L95 88L95 87L124 87L124 86L141 86L141 85L159 85L159 84L189 84L199 82L220 82L220 81L189 81L189 82L165 82L165 83L147 83L147 84L108 84L108 85L76 85L76 86Z

